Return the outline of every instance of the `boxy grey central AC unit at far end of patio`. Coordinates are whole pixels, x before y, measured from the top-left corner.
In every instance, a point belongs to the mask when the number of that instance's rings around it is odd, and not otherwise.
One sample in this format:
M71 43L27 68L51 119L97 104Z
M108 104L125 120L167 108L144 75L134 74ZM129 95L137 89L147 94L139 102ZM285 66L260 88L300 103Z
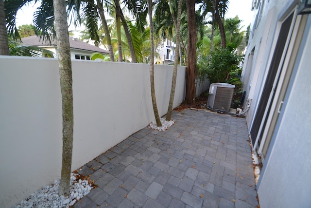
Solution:
M213 110L230 111L235 86L227 83L209 85L207 107Z

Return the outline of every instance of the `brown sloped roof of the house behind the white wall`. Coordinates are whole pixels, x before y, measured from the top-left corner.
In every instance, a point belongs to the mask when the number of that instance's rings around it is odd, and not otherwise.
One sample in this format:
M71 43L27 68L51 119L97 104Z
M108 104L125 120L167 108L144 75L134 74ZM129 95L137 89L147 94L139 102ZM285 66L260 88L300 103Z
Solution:
M21 38L22 45L34 45L34 46L54 46L56 47L56 41L52 40L52 43L50 44L47 41L40 40L37 36L29 36L26 38ZM77 38L69 37L69 44L70 48L72 49L80 49L80 50L86 50L86 51L92 51L92 52L99 52L108 54L109 52L101 49L99 47L96 47L94 45L88 44L86 42L83 42Z

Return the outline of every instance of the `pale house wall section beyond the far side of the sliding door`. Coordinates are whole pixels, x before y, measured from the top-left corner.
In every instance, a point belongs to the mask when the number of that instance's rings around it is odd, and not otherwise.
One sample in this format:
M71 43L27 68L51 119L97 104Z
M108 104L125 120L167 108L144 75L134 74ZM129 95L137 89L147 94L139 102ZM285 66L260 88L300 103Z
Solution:
M257 110L257 102L259 102L259 97L264 86L263 81L268 76L267 72L277 40L275 33L277 27L280 26L277 24L279 20L277 16L284 7L288 7L289 1L292 2L294 0L265 0L262 8L254 12L254 20L251 23L249 44L245 57L248 57L254 48L255 52L251 61L252 63L248 63L248 59L245 60L246 64L244 64L242 73L244 90L246 90L245 100L247 98L252 99L252 105L246 116L248 127L250 127ZM262 0L260 2L262 3ZM260 11L261 15L259 15ZM255 22L257 14L258 20Z

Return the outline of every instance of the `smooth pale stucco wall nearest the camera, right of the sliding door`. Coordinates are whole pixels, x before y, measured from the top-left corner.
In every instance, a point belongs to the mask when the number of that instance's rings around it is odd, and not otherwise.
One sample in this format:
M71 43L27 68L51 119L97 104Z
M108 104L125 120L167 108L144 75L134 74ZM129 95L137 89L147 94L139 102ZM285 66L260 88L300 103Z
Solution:
M311 22L311 17L309 17ZM309 30L309 31L308 31ZM279 125L260 175L260 208L311 207L311 31L284 100ZM299 59L299 58L298 58Z

